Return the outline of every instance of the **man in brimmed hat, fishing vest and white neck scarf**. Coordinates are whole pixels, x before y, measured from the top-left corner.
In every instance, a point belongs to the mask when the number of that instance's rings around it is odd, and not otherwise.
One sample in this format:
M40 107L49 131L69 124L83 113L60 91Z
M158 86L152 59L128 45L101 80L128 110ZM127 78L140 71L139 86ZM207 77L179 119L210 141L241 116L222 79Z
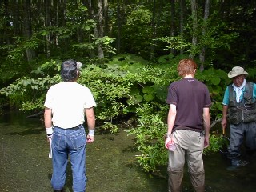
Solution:
M248 154L252 154L256 149L256 84L247 82L247 75L242 67L233 67L228 73L233 83L226 87L222 102L222 129L226 129L227 114L230 120L227 158L234 167L246 166L249 163L241 159L243 141Z

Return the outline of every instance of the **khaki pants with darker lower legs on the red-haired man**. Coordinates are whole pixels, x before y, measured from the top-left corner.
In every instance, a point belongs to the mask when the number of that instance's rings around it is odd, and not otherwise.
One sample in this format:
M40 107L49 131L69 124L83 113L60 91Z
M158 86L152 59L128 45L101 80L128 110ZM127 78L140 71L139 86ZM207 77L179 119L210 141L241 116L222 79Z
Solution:
M204 136L191 130L176 130L173 134L176 150L169 151L168 175L169 192L182 191L185 157L190 181L196 192L205 191L205 171L202 161Z

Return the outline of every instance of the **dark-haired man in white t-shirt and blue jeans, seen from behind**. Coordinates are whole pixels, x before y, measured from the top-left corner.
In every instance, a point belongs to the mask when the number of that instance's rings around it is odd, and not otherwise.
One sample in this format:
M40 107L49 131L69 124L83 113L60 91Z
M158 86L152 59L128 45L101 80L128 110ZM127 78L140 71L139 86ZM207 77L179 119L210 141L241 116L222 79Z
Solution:
M95 116L93 94L78 84L82 63L74 60L62 62L62 81L51 86L46 94L45 126L52 148L54 191L64 191L68 156L73 175L73 190L86 190L86 142L94 142ZM89 133L83 126L86 121Z

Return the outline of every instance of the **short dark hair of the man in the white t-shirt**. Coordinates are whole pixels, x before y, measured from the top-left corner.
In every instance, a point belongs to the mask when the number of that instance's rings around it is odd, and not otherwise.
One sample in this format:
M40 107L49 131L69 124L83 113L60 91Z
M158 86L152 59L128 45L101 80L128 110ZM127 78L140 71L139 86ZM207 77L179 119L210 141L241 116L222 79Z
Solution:
M73 59L62 62L61 76L63 82L74 82L78 78L77 62Z

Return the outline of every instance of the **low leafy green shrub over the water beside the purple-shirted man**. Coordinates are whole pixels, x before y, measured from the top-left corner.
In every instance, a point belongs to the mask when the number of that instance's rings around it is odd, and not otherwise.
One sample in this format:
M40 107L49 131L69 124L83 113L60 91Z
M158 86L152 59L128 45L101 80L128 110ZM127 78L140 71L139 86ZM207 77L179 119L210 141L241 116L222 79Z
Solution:
M143 170L154 171L159 165L167 162L167 150L164 147L166 134L166 112L168 106L144 104L138 108L138 126L130 129L128 135L136 135L138 162Z

